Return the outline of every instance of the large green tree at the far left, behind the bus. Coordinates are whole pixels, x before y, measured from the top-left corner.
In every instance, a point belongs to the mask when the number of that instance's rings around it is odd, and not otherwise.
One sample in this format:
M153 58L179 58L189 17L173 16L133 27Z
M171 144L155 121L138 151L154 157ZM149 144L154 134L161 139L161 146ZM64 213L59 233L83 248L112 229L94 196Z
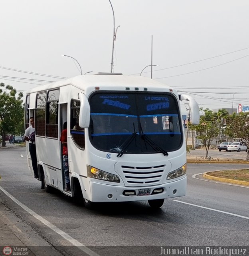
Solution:
M16 95L16 89L10 85L0 83L0 134L2 146L5 147L6 134L20 132L20 123L23 122L24 108L22 106L23 94Z

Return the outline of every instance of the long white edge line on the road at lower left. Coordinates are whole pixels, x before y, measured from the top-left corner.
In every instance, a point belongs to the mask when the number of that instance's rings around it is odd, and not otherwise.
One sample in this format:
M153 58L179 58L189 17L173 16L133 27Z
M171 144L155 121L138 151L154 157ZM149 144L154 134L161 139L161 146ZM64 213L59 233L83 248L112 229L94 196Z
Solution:
M81 244L81 242L79 242L76 239L69 236L69 234L67 234L64 231L57 228L57 226L53 225L51 222L45 220L43 217L38 215L36 212L32 211L30 208L28 208L28 206L21 203L14 196L12 196L9 192L7 192L4 188L2 188L2 186L0 186L0 190L2 190L2 192L4 192L4 194L6 194L6 196L8 196L10 199L12 199L16 204L18 204L20 207L22 207L26 212L28 212L33 217L35 217L37 220L39 220L41 223L46 225L48 228L50 228L51 230L53 230L54 232L56 232L57 234L62 236L65 240L69 241L71 244L73 244L74 246L77 246L80 250L82 250L83 252L85 252L89 256L100 256L96 252L93 252L92 250L87 248L84 244Z

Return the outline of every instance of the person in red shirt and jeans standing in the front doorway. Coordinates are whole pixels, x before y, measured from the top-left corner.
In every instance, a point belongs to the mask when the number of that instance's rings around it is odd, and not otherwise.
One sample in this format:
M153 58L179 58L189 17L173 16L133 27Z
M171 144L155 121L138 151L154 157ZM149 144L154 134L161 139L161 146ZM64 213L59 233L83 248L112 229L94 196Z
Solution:
M61 132L60 138L62 144L62 158L63 158L63 171L66 181L66 188L64 191L71 191L70 180L69 180L69 166L68 166L68 156L67 156L67 122L63 124L63 130Z

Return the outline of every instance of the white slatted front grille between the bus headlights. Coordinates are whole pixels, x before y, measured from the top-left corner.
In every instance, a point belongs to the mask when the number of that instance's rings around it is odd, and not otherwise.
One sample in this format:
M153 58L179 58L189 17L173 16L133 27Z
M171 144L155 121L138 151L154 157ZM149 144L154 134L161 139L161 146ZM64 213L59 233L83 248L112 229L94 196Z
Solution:
M165 165L134 167L121 166L126 182L129 184L152 184L160 182Z

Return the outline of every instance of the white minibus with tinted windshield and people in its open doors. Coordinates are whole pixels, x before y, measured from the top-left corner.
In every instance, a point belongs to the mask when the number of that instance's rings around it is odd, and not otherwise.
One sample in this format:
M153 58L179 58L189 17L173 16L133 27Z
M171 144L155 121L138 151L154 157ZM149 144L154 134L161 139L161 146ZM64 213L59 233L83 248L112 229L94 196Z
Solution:
M196 101L160 82L121 73L76 76L31 89L25 124L35 119L38 180L91 208L97 202L148 200L186 194L186 143L180 100ZM65 191L60 134L67 122L71 191ZM27 157L31 171L30 153Z

